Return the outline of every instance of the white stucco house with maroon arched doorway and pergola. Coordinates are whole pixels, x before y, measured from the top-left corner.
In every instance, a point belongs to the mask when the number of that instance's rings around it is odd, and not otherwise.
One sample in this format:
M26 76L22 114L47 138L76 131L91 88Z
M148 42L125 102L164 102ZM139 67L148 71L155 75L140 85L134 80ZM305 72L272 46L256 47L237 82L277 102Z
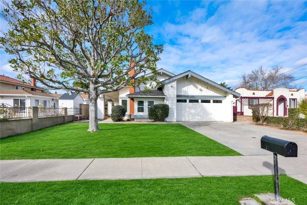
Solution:
M299 101L305 98L305 89L275 88L274 90L250 90L244 87L235 89L241 97L234 103L234 114L252 116L255 104L270 103L270 116L287 116L287 108L297 108Z

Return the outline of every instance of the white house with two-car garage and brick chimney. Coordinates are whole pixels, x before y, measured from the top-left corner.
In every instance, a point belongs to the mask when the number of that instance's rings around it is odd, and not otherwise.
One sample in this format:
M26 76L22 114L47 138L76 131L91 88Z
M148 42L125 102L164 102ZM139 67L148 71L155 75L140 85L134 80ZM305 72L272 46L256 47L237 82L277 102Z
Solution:
M142 92L144 85L140 85L141 91L130 87L100 95L98 118L111 115L112 106L121 104L126 108L126 116L134 120L149 120L150 106L165 103L169 105L166 121L233 121L232 101L234 97L240 97L239 93L190 70L178 75L164 69L158 71L157 79L161 85L150 92ZM133 72L130 71L130 75ZM105 101L108 105L106 113Z

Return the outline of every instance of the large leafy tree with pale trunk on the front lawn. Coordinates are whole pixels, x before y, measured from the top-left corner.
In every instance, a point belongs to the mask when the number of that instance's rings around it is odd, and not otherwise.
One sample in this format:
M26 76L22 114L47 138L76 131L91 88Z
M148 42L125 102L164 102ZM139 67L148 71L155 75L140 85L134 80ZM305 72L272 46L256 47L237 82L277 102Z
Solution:
M89 131L98 130L100 94L133 85L146 70L157 74L162 45L145 33L153 23L145 1L2 0L2 5L10 29L2 31L0 43L14 56L9 62L18 77L88 93Z

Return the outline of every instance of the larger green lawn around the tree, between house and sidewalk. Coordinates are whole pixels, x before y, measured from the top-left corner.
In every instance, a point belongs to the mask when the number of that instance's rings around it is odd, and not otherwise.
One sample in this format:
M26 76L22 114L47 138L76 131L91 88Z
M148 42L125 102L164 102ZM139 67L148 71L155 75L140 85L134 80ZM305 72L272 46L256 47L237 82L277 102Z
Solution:
M235 156L238 152L181 124L67 123L0 140L0 158L68 159L157 156Z

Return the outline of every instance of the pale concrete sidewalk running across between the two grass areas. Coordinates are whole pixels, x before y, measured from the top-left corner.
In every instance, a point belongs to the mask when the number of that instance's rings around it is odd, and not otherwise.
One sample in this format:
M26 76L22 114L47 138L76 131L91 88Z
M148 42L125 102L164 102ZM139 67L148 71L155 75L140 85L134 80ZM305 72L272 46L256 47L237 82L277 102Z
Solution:
M307 183L307 155L278 156L279 173ZM272 175L273 155L0 160L4 182Z

